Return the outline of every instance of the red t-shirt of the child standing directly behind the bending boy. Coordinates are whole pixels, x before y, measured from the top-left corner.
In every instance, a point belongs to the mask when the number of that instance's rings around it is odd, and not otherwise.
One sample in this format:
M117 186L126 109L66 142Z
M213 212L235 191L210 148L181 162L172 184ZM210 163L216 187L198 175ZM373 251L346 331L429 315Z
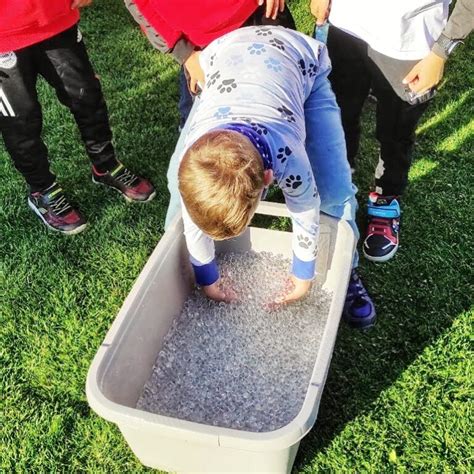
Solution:
M140 13L172 48L185 37L204 47L252 15L258 0L134 0Z

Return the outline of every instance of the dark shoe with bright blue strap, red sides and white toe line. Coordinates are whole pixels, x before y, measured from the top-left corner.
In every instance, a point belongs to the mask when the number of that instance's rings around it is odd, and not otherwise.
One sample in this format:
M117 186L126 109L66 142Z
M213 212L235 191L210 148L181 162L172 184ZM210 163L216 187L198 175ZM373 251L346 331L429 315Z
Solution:
M364 255L373 262L391 259L398 249L400 204L396 196L369 194L369 223L364 240Z

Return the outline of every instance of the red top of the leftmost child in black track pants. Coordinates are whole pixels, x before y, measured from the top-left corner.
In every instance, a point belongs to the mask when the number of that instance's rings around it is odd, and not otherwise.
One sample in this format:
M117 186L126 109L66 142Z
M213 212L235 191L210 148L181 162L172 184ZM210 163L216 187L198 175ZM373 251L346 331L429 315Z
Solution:
M15 51L67 30L79 21L72 0L0 0L0 53Z

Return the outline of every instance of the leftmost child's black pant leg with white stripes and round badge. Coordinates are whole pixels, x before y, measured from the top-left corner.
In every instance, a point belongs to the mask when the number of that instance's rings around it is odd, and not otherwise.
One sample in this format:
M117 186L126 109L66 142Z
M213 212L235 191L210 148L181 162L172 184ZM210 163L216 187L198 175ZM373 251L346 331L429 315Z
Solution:
M16 169L31 192L51 186L55 176L41 139L42 114L36 93L35 46L0 59L0 131Z

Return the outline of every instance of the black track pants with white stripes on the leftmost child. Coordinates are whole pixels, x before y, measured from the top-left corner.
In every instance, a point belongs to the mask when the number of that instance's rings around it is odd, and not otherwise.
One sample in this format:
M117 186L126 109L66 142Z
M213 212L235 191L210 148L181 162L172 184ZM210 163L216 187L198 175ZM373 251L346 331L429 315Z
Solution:
M31 191L43 190L55 181L41 139L38 75L54 87L58 99L73 113L92 163L99 169L115 164L100 83L74 26L33 46L0 55L0 131Z

